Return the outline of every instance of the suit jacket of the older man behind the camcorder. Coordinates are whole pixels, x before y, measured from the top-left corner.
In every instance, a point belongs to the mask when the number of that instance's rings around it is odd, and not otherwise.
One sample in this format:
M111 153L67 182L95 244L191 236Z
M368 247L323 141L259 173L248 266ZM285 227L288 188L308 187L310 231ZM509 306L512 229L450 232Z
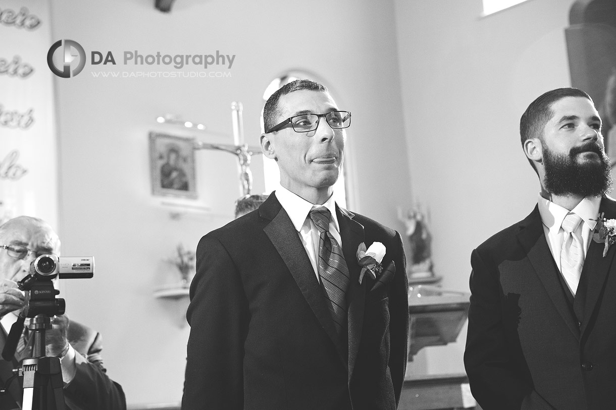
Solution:
M105 374L101 356L102 339L100 333L83 324L71 321L68 326L68 342L75 349L75 378L64 388L64 400L69 410L123 410L126 399L122 387ZM4 348L6 336L0 332L0 352ZM17 362L0 359L0 384L12 376ZM0 395L0 410L17 408L22 403L21 379L9 385L9 394Z

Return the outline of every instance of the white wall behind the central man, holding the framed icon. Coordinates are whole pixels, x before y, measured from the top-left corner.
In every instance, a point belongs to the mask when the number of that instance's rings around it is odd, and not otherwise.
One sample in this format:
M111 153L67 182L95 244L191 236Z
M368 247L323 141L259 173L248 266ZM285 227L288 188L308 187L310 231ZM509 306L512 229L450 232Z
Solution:
M263 6L266 4L267 6ZM410 204L410 171L402 121L394 6L362 1L177 0L171 14L151 0L54 0L54 39L79 42L86 54L113 52L118 66L90 66L56 79L60 141L60 236L64 255L95 255L94 279L66 281L74 320L102 332L108 374L129 404L177 402L182 395L185 301L155 300L153 289L176 273L163 259L179 241L232 217L240 195L235 159L197 152L197 201L210 213L161 206L150 194L148 132L231 143L230 103L243 102L246 141L258 142L262 94L291 68L326 79L342 109L352 111L347 155L351 209L402 229L397 206ZM231 78L94 78L92 71L156 71L124 67L124 50L141 54L235 54ZM89 58L88 58L89 60ZM190 68L190 70L198 70ZM155 123L177 113L227 134L181 132ZM253 159L254 191L262 162Z

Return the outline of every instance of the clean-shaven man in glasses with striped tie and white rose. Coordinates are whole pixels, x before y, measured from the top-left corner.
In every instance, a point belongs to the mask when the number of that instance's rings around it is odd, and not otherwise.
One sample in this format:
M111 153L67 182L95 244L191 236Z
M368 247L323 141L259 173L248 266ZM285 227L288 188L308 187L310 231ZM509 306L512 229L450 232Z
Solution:
M261 148L280 187L197 247L182 409L395 409L405 257L399 233L333 199L351 113L297 80L263 116ZM383 270L362 275L359 251L376 242Z

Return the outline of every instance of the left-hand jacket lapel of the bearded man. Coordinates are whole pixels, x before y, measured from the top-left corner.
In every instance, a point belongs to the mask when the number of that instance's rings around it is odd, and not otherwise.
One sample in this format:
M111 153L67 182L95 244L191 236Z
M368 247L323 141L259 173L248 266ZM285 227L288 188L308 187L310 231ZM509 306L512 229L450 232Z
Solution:
M526 255L537 273L541 284L545 288L556 310L561 315L562 320L567 324L575 337L580 337L580 328L572 315L569 303L562 291L561 283L558 279L560 275L554 263L554 257L549 250L548 241L543 231L539 208L530 213L521 223L521 230L517 238L524 247Z

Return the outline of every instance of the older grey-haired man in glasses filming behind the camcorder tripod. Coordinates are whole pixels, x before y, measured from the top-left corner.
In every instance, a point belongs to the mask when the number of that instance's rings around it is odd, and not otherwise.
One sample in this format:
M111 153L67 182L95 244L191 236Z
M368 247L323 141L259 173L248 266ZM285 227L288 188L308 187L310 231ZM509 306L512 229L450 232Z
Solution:
M24 293L17 282L30 273L31 262L41 255L59 255L60 239L41 219L17 217L0 225L0 351L4 348L10 327L23 308ZM53 329L46 332L46 355L60 358L64 382L64 398L68 409L126 409L120 385L105 374L100 334L67 316L52 318ZM32 332L29 332L30 336ZM13 380L12 369L18 361L31 357L33 338L25 330L17 345L15 360L0 359L0 382L9 394L0 395L0 409L22 406L22 385ZM23 340L23 342L22 342Z

